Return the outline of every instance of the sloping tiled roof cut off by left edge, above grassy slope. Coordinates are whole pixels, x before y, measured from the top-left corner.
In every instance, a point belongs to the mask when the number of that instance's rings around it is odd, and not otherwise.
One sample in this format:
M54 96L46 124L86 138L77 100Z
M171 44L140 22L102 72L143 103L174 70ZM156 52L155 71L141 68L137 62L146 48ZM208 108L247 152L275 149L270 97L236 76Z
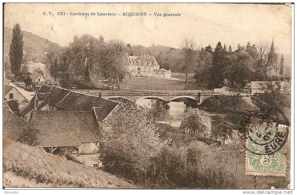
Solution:
M18 140L20 133L26 127L27 123L13 114L6 106L3 109L3 136Z

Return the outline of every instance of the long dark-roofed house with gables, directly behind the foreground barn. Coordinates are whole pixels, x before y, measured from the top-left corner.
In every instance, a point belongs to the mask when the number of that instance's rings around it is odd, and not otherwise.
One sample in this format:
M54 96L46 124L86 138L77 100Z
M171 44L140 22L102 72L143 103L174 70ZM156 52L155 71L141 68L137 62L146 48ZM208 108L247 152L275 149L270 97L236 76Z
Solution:
M50 111L93 111L100 127L114 110L122 109L119 101L88 95L61 87L43 84L29 103L20 109L20 117L29 121L34 110Z

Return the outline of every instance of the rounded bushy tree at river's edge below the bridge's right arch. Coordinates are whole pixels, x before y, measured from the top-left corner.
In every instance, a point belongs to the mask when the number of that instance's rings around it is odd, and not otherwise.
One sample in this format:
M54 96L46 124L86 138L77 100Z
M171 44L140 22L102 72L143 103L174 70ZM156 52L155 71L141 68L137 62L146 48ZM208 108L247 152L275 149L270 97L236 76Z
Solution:
M181 119L181 130L188 131L188 133L203 132L206 126L203 124L198 108L187 108Z

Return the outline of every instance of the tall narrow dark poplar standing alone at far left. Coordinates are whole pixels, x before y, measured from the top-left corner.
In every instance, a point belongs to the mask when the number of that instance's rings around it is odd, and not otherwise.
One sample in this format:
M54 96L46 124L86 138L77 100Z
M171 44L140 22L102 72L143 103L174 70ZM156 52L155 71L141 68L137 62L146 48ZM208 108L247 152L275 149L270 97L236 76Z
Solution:
M16 80L20 72L23 59L23 33L18 23L14 25L12 30L9 59L11 72L15 75Z

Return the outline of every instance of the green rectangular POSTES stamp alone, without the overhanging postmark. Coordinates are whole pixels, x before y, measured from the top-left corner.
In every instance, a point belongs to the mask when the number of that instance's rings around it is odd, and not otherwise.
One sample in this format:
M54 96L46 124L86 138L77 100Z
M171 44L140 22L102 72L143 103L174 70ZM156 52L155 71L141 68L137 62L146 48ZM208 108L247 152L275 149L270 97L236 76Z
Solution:
M245 174L285 176L286 127L263 126L250 129L250 133Z

